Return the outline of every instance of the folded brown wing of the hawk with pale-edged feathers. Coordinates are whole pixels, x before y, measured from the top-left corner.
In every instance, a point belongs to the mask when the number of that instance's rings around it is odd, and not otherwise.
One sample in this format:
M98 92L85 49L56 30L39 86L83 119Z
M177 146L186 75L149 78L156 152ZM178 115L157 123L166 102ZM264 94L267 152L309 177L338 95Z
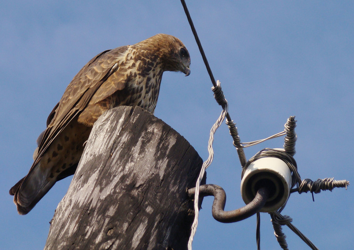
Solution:
M43 135L39 145L38 156L33 166L39 162L41 156L51 145L57 135L68 125L68 123L78 115L99 88L107 91L105 97L109 93L123 89L125 87L125 79L120 78L120 82L110 80L111 76L115 76L119 72L116 61L126 51L128 46L122 46L113 50L106 50L91 59L70 82L65 90L61 100L48 116L47 129ZM31 168L32 170L32 168Z

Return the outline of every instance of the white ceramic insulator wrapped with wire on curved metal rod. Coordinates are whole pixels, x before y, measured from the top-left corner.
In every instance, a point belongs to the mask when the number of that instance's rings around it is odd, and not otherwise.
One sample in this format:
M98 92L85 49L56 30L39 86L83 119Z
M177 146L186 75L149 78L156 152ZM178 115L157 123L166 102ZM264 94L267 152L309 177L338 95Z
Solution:
M270 197L261 212L273 212L289 198L291 172L286 163L276 157L263 157L253 161L241 180L241 195L246 204L255 198L259 185L266 185Z

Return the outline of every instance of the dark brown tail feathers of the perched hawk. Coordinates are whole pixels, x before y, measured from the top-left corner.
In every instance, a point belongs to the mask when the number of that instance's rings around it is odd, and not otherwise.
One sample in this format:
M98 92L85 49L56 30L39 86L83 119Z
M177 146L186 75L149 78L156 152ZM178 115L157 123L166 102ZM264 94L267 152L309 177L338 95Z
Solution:
M13 202L16 204L20 215L25 215L32 210L56 183L55 178L47 178L49 172L49 169L41 168L39 162L31 168L26 177L10 189L10 194L14 194ZM13 192L15 188L16 191Z

